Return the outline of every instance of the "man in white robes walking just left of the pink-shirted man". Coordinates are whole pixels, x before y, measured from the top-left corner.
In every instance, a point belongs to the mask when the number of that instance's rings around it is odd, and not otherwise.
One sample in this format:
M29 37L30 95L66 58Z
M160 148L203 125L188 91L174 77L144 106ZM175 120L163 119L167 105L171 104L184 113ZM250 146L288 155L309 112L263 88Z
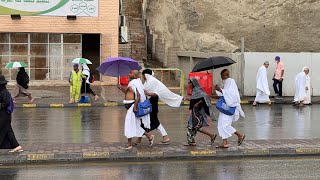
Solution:
M257 94L256 98L254 99L253 106L257 105L258 103L268 103L271 105L271 101L269 99L270 90L268 84L268 74L267 68L269 67L269 62L265 61L263 66L261 66L257 73Z

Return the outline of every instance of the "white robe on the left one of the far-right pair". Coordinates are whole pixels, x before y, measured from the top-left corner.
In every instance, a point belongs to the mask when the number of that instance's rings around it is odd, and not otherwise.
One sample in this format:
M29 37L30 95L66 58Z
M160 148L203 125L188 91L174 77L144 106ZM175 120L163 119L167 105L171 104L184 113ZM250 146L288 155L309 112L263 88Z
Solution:
M296 76L296 79L295 79L296 93L294 95L295 102L304 101L307 98L306 80L307 78L306 78L305 72L301 72Z

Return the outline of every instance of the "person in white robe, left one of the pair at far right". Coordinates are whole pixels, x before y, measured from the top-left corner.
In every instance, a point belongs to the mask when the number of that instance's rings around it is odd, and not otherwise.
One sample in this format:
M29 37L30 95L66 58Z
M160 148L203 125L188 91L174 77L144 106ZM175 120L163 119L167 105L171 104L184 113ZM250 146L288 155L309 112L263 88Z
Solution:
M307 99L308 90L307 87L307 75L309 74L309 69L304 67L302 72L300 72L295 78L295 88L296 93L294 95L294 102L296 105L303 106L303 101Z

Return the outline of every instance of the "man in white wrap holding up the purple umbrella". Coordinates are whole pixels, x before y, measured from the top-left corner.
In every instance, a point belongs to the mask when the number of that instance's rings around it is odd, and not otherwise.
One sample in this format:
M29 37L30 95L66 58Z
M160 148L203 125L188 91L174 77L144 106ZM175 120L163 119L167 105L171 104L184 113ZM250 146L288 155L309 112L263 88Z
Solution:
M146 128L150 128L150 115L147 114L140 118L136 117L135 115L138 103L146 100L143 84L140 78L138 78L139 72L137 70L131 70L129 77L132 80L129 82L126 89L121 85L118 85L118 88L125 93L125 100L123 103L127 108L127 114L124 123L124 135L128 138L128 144L124 149L132 149L132 138L140 138L143 135L147 136L151 147L153 145L154 135L145 132L145 130L141 127L142 122Z

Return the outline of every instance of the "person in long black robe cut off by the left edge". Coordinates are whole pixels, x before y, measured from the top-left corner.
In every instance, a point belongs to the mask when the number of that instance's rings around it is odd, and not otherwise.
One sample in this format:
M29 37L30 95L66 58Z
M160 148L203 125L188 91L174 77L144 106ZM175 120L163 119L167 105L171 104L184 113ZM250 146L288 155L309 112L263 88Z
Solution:
M11 127L11 111L13 106L11 94L6 88L8 81L3 75L0 75L0 149L12 149L9 152L22 152Z

